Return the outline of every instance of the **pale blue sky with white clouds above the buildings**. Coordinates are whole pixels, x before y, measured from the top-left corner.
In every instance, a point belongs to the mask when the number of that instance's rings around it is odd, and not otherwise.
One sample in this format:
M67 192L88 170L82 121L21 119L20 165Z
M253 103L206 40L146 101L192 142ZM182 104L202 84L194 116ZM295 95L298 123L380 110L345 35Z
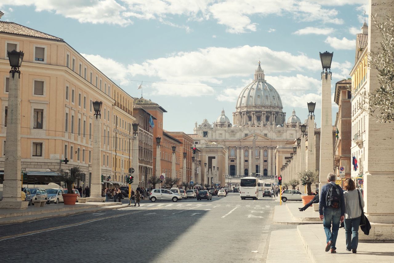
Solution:
M364 16L364 10L366 14ZM232 112L261 61L286 118L317 102L319 52L334 52L335 82L349 77L368 0L2 0L1 18L63 38L133 97L160 104L164 129ZM333 124L338 106L333 102Z

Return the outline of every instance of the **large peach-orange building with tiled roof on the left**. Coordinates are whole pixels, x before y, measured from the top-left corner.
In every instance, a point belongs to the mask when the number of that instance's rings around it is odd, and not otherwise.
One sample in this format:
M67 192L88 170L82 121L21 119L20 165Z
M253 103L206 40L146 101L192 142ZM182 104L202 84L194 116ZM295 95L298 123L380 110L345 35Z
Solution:
M63 39L0 21L0 148L7 131L7 51L24 51L20 68L22 170L59 172L80 166L89 185L93 106L101 108L101 170L104 179L124 181L130 167L129 136L133 99ZM67 158L68 164L59 160ZM4 167L4 157L0 158Z

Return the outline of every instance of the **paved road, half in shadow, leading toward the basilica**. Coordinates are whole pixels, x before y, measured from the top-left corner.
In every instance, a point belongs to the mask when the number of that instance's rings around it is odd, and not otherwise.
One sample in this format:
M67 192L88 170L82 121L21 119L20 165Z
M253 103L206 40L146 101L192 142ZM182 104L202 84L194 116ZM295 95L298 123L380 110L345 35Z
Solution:
M260 195L261 196L261 195ZM239 194L142 201L141 207L0 226L1 262L265 262L272 225L269 197Z

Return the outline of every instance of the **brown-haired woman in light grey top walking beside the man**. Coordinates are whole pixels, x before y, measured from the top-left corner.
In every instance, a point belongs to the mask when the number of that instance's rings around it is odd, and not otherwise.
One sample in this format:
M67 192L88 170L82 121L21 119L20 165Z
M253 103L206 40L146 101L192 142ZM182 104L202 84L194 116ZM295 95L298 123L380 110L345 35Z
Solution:
M361 207L364 209L364 199L352 179L346 178L344 188L346 190L344 192L346 250L357 253Z

